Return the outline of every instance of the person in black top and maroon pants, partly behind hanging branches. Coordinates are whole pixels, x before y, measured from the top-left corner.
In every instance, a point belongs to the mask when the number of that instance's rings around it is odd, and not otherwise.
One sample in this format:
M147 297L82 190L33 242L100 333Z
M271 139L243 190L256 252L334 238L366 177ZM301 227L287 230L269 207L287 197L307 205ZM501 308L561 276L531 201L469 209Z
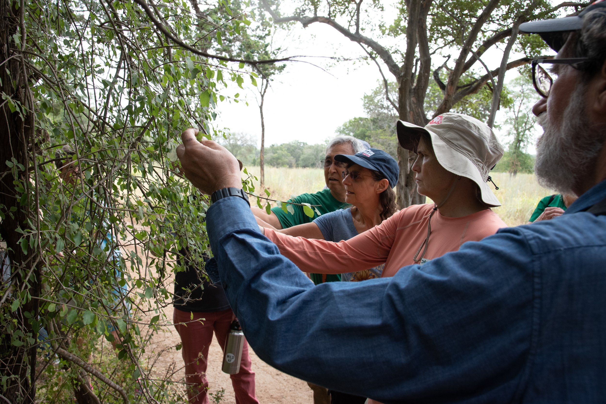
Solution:
M182 259L186 253L181 250L179 258ZM221 349L225 347L229 326L235 316L221 285L210 284L193 265L186 266L184 272L175 273L175 295L178 298L173 302L173 322L181 336L189 403L207 404L208 348L213 340L213 333ZM242 350L240 371L230 377L237 404L259 403L255 397L255 373L251 370L246 341Z

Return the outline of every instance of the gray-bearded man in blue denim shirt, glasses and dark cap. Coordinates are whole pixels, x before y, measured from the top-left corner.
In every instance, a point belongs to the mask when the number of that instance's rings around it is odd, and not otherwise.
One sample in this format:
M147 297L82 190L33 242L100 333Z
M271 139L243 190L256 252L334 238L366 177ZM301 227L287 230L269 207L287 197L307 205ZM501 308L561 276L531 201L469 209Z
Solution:
M247 201L224 190L240 186L235 158L184 132L185 175L205 194L220 190L208 235L261 359L382 403L606 402L605 6L520 27L561 62L553 85L535 72L537 174L579 199L559 218L501 229L393 278L311 285L258 232Z

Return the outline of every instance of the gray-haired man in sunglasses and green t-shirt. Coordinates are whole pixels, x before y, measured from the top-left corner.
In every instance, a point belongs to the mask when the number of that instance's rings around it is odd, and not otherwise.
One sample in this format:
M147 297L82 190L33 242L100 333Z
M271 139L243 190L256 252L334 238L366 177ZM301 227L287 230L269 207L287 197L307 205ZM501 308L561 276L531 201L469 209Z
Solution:
M294 203L309 203L317 206L316 209L324 215L324 213L334 212L338 209L347 207L345 203L345 187L343 186L341 172L344 167L339 165L338 162L333 160L336 154L348 154L353 155L359 151L362 151L364 146L362 143L351 136L337 136L333 138L326 148L326 155L322 163L324 164L324 180L326 181L326 189L316 192L315 194L301 194L296 198L289 199L288 202ZM298 224L311 223L318 214L314 212L313 218L308 217L303 212L303 207L298 205L292 205L295 210L295 214L290 212L286 213L279 207L271 208L271 214L268 215L263 209L259 209L256 206L252 206L250 209L257 218L257 221L261 220L265 223L271 224L276 229L287 229L288 227L296 226ZM261 223L260 223L261 224ZM310 274L311 280L317 285L323 282L340 281L341 275L320 275ZM325 277L322 278L322 277Z

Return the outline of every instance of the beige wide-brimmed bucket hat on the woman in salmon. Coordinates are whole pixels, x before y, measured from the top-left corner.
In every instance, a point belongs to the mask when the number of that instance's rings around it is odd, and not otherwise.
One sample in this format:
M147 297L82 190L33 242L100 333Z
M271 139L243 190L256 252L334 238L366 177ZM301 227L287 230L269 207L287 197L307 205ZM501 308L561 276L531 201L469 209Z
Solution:
M422 133L430 135L440 165L478 184L485 204L501 206L487 181L490 170L503 157L503 146L488 125L467 115L446 112L425 128L402 120L396 126L398 142L408 150L415 149Z

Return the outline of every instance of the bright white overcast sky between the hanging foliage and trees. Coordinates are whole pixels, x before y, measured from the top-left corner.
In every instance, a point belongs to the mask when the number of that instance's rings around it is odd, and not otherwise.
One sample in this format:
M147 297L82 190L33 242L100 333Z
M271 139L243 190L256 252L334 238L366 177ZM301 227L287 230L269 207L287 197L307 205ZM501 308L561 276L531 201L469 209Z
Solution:
M339 34L326 24L311 24L302 28L298 24L290 37L279 41L278 45L288 47L284 56L345 56L352 61L332 62L327 59L309 58L308 62L324 68L301 62L289 62L284 73L275 76L265 96L265 145L300 140L307 143L321 143L335 135L335 129L353 117L364 116L362 96L379 85L381 76L376 65L367 64L357 58L364 51L355 42ZM403 46L405 46L403 44ZM490 68L497 68L502 51L493 50L482 60ZM520 57L511 54L510 60ZM435 62L439 57L434 57ZM435 63L434 62L434 63ZM393 76L382 66L385 76ZM512 70L506 82L518 75ZM231 132L244 132L261 141L261 120L255 100L255 89L245 80L249 90L242 92L235 85L229 93L245 94L248 106L241 103L219 103L219 116L215 125L229 128ZM260 83L260 80L259 80ZM230 94L233 96L233 94ZM497 132L499 135L499 133ZM529 150L534 151L534 148Z

